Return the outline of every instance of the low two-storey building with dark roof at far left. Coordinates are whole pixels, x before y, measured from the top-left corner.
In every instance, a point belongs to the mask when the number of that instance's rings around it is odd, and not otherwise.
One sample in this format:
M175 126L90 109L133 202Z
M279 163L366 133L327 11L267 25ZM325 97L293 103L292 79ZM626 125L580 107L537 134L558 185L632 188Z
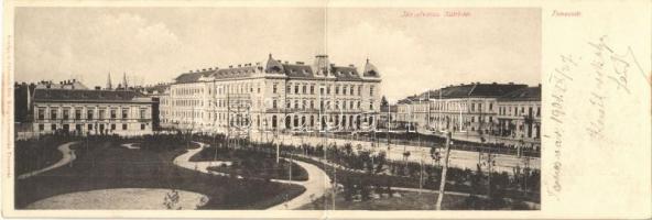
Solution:
M151 134L152 99L133 90L36 88L34 133Z

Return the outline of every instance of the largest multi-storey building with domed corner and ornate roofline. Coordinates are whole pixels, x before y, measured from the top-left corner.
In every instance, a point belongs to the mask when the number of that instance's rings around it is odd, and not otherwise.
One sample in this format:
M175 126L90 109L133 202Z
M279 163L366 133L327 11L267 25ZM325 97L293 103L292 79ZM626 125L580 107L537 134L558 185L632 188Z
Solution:
M267 62L182 74L161 99L163 121L178 129L225 132L351 131L376 124L380 75L367 61L336 66L317 55L313 65Z

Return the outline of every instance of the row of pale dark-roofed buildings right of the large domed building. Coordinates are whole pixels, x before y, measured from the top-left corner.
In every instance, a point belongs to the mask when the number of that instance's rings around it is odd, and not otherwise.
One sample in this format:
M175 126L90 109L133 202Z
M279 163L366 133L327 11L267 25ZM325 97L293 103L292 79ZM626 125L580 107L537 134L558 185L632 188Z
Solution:
M479 82L448 86L408 97L398 106L399 122L416 131L445 130L509 144L525 138L530 146L540 144L541 87ZM510 113L515 111L520 113Z

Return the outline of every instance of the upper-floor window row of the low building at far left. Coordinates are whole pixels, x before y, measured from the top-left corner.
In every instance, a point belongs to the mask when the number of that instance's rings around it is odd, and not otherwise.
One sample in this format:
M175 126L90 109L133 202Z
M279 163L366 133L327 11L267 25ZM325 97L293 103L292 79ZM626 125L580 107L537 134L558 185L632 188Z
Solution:
M39 108L37 110L39 112L36 113L36 118L39 120L45 120L45 108ZM93 120L95 117L95 110L94 109L88 109L85 113L86 118L83 118L84 114L82 113L82 109L75 109L74 110L74 118L72 118L70 116L70 109L65 108L62 110L62 116L59 118L58 116L58 109L54 108L50 110L50 120L58 120L58 119L63 119L63 120L69 120L69 119L87 119L87 120ZM107 111L105 109L99 109L98 110L98 119L102 120L106 117ZM140 109L139 111L139 117L140 119L145 119L146 118L146 109ZM109 118L110 119L117 119L118 116L118 109L111 109L109 110ZM121 119L129 119L129 109L121 109Z

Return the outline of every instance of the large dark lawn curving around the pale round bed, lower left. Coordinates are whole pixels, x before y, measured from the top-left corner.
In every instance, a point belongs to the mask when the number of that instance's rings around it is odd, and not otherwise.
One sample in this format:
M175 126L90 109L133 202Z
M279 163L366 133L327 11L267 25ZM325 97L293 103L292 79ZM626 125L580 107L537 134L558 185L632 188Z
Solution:
M97 141L76 145L77 160L41 175L15 182L15 208L56 195L106 188L176 188L206 195L202 209L264 209L302 194L302 186L256 179L237 179L203 174L174 165L183 147L155 148L141 144L128 150L133 140ZM161 198L163 202L164 198Z

